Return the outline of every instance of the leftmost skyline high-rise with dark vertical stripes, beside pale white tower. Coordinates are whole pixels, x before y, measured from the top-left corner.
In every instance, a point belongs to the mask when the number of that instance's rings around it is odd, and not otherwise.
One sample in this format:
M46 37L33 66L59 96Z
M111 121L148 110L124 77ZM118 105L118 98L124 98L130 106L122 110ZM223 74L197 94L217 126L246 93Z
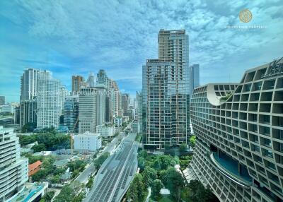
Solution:
M37 69L25 69L21 76L20 126L37 121Z

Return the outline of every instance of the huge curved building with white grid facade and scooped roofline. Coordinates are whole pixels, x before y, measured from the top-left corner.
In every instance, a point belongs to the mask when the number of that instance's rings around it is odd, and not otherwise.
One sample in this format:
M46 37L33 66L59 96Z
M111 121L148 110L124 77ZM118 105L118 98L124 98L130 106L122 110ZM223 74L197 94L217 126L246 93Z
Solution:
M184 171L220 201L283 201L283 59L241 83L195 88L195 154Z

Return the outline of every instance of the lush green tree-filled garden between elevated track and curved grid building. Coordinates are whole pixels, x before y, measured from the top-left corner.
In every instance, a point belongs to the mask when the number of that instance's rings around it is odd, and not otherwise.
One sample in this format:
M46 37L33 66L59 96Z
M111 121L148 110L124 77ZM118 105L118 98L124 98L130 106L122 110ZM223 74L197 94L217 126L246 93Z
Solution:
M138 154L138 166L141 172L135 175L130 184L127 199L143 202L148 195L147 189L151 187L149 201L218 201L199 181L192 180L187 184L182 174L175 170L175 165L180 164L182 169L191 158L191 156L178 158L171 155L149 155L145 150L141 150ZM162 196L161 189L168 189L171 194Z

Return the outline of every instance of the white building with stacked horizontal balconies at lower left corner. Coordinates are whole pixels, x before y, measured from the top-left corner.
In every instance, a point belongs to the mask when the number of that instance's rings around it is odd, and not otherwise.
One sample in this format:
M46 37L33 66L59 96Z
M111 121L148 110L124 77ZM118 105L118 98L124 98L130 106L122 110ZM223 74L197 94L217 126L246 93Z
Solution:
M21 158L18 137L13 129L0 126L0 201L10 201L28 182L28 159Z

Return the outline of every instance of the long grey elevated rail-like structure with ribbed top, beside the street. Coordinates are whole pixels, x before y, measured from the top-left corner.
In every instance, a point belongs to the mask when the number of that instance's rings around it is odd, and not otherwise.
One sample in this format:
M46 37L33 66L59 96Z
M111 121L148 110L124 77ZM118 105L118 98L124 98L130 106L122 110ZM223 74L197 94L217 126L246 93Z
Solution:
M137 149L139 143L134 141L136 133L129 133L119 148L105 160L98 170L93 188L84 202L121 201L134 174L137 172Z

